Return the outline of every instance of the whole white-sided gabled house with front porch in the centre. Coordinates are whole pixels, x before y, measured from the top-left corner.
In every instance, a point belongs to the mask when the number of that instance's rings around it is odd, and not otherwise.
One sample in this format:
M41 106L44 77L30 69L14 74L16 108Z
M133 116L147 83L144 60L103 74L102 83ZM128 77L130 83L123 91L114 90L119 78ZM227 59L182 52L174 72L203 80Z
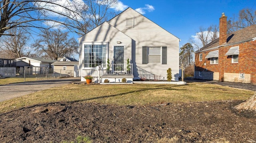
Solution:
M178 80L179 41L170 32L128 8L79 38L80 76L98 78L99 73L103 81L104 78L116 81L128 78L130 81L160 77L166 80L167 70L171 68L172 80Z

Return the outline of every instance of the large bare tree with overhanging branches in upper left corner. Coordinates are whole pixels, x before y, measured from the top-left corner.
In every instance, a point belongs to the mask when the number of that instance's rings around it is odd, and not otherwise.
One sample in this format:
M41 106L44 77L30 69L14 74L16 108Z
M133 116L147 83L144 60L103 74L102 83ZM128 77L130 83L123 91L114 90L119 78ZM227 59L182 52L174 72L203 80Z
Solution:
M62 11L54 10L54 7L60 7ZM58 17L53 18L49 14ZM68 25L66 21L74 20L74 16L77 17L80 14L71 6L58 4L58 0L1 0L0 16L1 37L2 35L14 35L13 33L5 33L5 31L15 27L47 29L49 27L40 23L47 21L76 28L74 25Z

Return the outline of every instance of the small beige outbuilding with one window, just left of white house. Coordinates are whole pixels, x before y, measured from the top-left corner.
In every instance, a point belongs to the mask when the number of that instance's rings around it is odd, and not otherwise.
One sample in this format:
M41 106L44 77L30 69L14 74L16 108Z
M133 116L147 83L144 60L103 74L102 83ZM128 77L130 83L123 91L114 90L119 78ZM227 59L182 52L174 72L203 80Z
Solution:
M52 63L54 66L54 76L64 77L78 77L78 61L56 61Z

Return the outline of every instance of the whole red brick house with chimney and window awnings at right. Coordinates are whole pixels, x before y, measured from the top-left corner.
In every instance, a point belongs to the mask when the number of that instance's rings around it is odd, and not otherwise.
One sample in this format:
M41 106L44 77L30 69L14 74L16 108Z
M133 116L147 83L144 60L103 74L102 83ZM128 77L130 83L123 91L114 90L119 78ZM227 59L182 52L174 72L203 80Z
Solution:
M195 52L194 78L256 84L256 25L227 34L220 17L220 37Z

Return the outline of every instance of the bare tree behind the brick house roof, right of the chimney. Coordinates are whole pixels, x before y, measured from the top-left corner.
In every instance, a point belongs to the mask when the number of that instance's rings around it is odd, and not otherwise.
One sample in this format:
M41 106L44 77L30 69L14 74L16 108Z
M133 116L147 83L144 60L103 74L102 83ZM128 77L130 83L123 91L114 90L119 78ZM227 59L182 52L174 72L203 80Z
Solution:
M244 8L228 19L228 33L256 24L256 10Z

